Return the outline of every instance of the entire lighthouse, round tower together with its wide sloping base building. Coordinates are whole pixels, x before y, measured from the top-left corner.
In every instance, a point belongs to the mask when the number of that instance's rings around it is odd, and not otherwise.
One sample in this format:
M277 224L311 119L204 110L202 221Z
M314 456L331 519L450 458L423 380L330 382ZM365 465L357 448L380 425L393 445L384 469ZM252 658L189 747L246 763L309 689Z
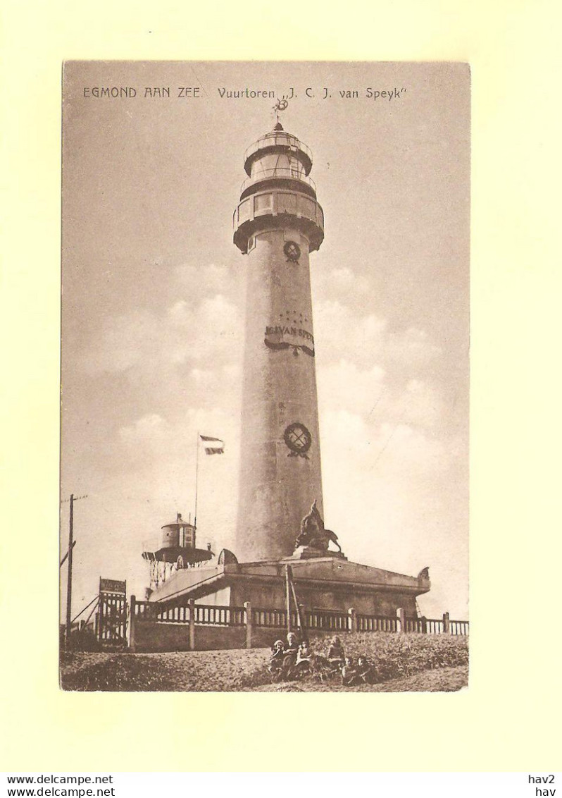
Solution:
M168 530L175 540L179 523L167 524L163 554L152 556L175 562L182 555L182 567L159 579L150 601L177 608L193 600L202 604L202 618L214 606L230 608L234 614L220 616L221 624L251 606L253 645L264 646L281 632L275 624L290 603L289 582L293 603L319 630L342 628L322 626L323 610L339 613L338 623L350 608L385 617L400 609L416 618L416 596L430 589L426 568L415 577L350 562L336 532L324 527L309 260L324 240L324 213L310 177L312 154L277 121L246 150L244 168L234 211L234 244L246 272L234 551L211 560L203 559L206 552L186 556L175 543L170 551ZM232 629L216 628L211 648L243 645L236 620ZM187 645L180 628L167 634L166 645Z

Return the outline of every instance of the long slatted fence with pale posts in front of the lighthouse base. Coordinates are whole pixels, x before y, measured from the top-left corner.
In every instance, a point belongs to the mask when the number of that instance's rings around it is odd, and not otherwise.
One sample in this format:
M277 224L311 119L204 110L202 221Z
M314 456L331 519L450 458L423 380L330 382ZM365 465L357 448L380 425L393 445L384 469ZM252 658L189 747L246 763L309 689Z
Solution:
M347 633L347 632L389 632L389 633L418 633L418 634L452 634L467 636L469 634L468 621L452 621L449 613L442 618L407 618L404 610L397 610L394 618L381 615L366 615L356 613L354 609L348 612L332 610L301 610L301 618L297 611L289 615L290 628L298 630L303 626L306 634L321 633ZM155 624L184 626L188 630L189 649L195 650L196 630L215 629L222 627L225 630L239 629L246 641L246 648L259 645L258 640L263 639L263 633L268 630L279 632L288 629L286 610L264 610L253 607L250 602L244 606L214 606L208 604L195 604L194 599L189 599L187 606L166 606L157 602L137 601L131 597L128 618L128 642L130 648L136 648L137 630L142 631L142 625ZM246 630L246 634L242 631Z

